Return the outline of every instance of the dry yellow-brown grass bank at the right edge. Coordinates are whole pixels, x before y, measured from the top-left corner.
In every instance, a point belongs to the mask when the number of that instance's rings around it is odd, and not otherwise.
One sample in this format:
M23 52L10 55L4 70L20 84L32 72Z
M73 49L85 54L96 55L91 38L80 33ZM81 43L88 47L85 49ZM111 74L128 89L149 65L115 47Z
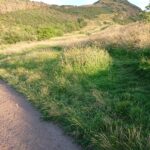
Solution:
M150 46L150 23L131 23L117 25L92 37L103 46L114 45L128 48L146 48Z

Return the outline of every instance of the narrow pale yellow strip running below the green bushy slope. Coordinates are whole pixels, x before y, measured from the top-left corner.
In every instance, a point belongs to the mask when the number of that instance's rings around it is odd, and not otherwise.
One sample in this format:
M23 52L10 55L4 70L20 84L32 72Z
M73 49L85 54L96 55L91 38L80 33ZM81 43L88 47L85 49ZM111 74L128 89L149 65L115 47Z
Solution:
M69 46L87 40L89 40L89 37L85 35L65 35L63 37L56 37L44 41L20 42L11 45L0 46L0 54L20 53L38 46Z

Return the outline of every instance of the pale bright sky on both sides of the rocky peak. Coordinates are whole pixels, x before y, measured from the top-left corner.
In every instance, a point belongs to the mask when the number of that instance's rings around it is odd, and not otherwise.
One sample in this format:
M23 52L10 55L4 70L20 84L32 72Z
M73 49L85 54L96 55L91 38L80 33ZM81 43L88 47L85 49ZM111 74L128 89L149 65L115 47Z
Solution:
M57 4L57 5L85 5L92 4L98 0L34 0L34 1L42 1L48 4ZM139 6L144 9L150 2L150 0L128 0L129 2Z

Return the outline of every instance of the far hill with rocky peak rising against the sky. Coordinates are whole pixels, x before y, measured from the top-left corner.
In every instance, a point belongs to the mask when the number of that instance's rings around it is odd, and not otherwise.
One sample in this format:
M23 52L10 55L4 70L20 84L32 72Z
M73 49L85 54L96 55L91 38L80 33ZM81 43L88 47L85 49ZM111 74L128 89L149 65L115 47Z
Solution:
M138 18L140 8L127 0L99 0L92 5L84 6L52 6L53 8L83 18L93 19L101 14L115 14L117 22L130 22Z

